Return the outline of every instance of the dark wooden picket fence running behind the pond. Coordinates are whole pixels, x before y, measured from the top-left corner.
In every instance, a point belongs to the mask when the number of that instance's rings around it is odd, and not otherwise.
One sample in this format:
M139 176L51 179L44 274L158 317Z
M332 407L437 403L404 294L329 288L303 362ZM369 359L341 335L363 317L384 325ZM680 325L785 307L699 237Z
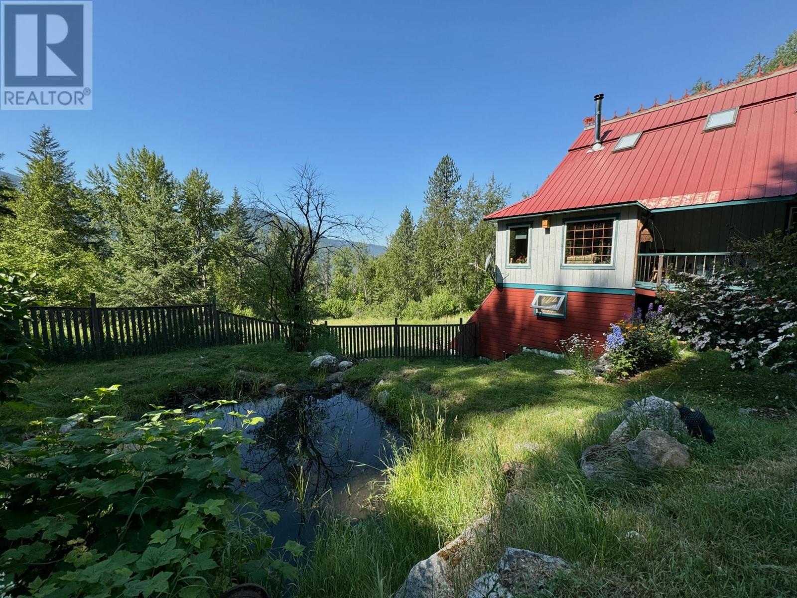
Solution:
M102 359L289 339L292 325L241 316L209 305L150 307L32 307L22 330L41 342L50 360ZM476 324L314 325L312 340L328 340L338 352L362 357L473 357Z

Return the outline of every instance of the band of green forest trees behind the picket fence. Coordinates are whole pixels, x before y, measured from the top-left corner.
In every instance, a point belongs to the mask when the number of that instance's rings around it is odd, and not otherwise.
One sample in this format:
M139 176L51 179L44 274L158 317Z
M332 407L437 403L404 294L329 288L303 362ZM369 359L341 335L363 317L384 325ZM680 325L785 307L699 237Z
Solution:
M235 188L229 201L194 168L176 177L162 155L131 149L80 179L49 127L30 138L18 176L0 177L0 263L33 281L44 305L182 305L277 321L432 319L475 309L492 281L485 214L510 187L463 185L442 157L422 214L402 211L387 248L379 222L341 214L310 164L285 190Z

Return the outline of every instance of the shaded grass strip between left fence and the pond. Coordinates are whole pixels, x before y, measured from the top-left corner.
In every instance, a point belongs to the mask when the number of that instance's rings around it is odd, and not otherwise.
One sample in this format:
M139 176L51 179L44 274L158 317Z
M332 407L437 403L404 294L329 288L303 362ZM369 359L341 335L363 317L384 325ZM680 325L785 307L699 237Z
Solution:
M42 407L23 412L0 406L0 418L21 425L45 415L72 415L72 399L112 384L121 388L111 411L123 416L140 414L153 403L179 395L196 395L197 402L217 392L235 398L253 386L260 390L278 382L312 379L308 361L306 354L289 352L283 344L264 343L49 364L38 368L37 376L23 387L25 399Z

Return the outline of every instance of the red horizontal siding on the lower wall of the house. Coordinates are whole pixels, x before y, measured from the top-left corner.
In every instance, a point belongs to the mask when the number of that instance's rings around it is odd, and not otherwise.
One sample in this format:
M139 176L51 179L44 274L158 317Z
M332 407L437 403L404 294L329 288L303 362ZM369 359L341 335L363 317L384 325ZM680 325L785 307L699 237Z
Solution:
M534 289L493 289L470 318L479 323L479 352L494 360L514 355L518 345L559 352L556 341L576 332L603 344L612 322L634 310L634 295L567 293L567 317L535 316Z

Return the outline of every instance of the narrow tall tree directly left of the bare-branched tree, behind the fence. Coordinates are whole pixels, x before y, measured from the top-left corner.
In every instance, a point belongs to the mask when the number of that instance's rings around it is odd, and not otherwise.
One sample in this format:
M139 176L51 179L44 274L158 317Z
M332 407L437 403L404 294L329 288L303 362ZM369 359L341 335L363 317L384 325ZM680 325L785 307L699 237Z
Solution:
M210 185L206 172L194 168L183 179L179 191L179 209L190 229L191 251L194 254L199 285L208 288L208 265L217 249L215 233L222 227L219 212L222 193ZM240 198L239 198L240 203Z

